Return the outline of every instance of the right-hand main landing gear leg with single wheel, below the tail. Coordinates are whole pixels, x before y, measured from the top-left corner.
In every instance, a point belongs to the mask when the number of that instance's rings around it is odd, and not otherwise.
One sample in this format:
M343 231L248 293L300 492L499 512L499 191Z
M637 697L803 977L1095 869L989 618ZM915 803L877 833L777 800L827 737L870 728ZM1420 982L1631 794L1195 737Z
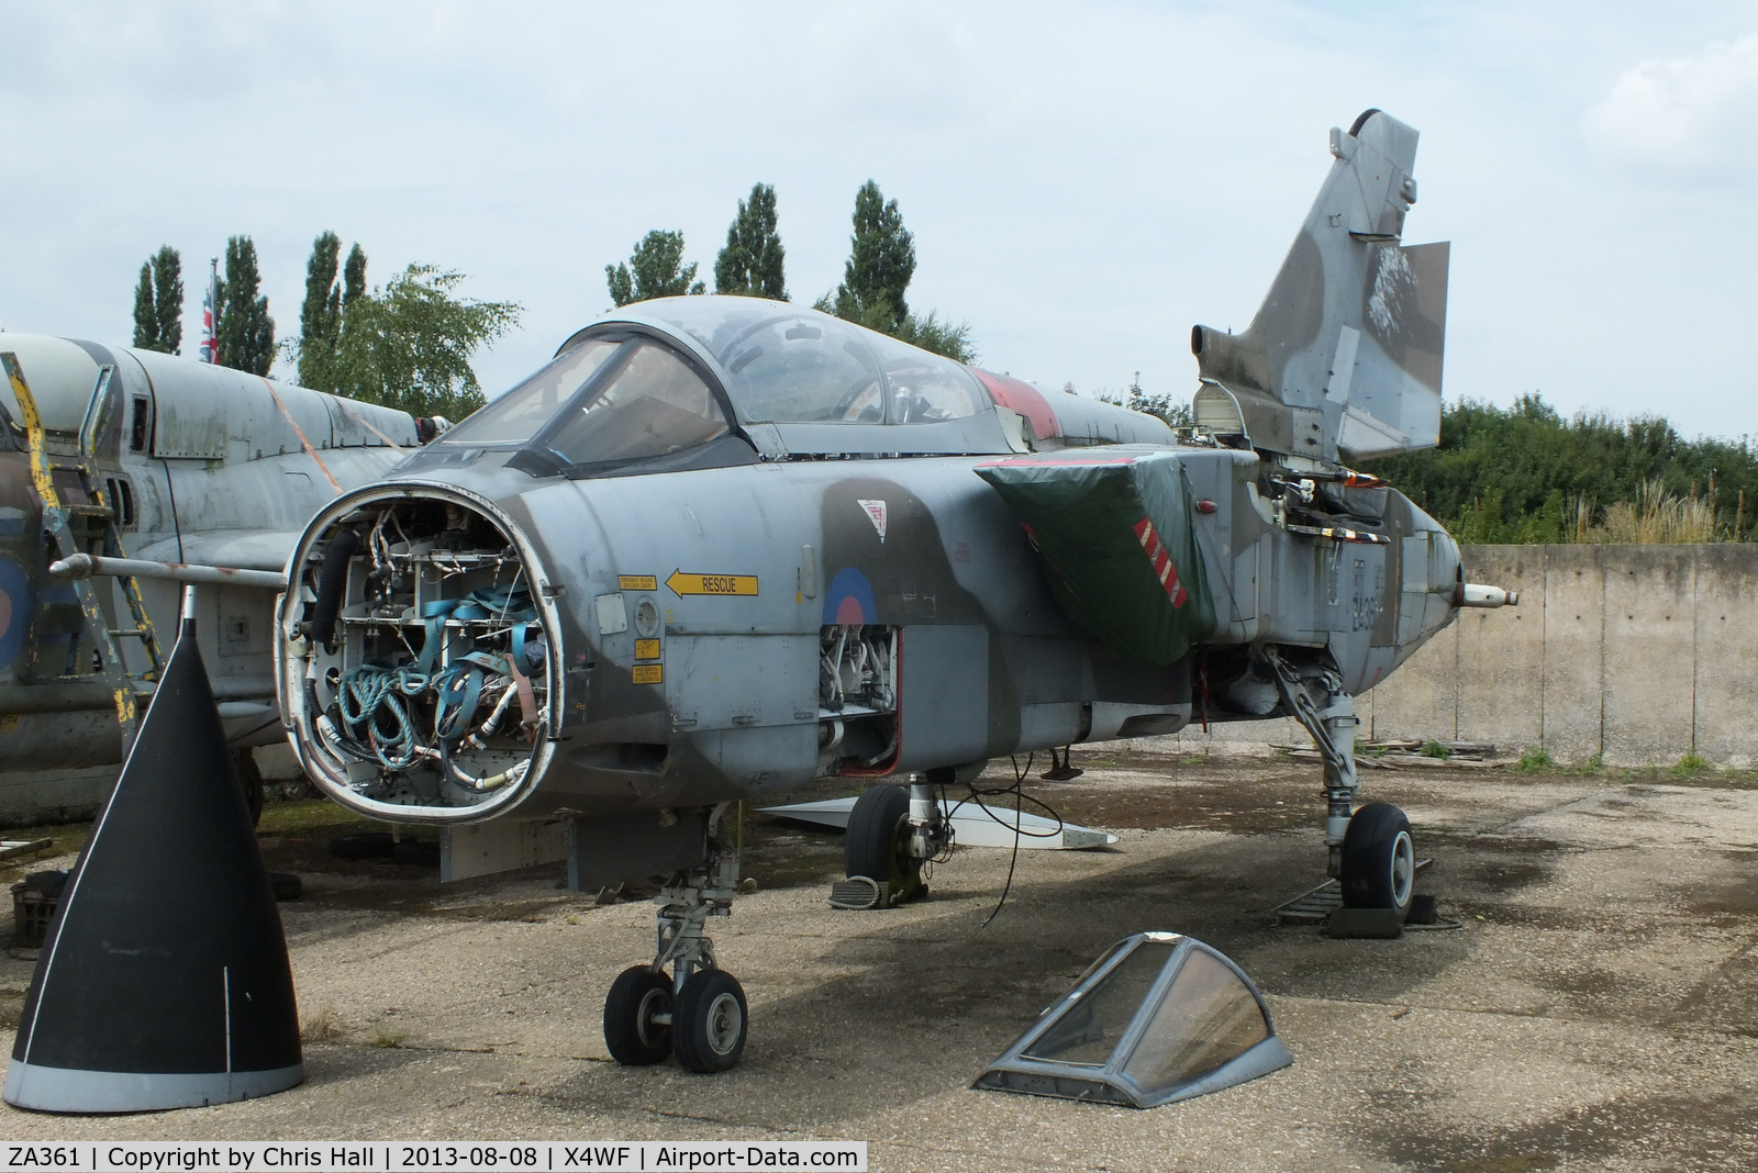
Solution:
M1299 669L1276 648L1264 648L1262 657L1283 708L1311 734L1324 759L1324 841L1343 904L1408 915L1417 871L1410 818L1391 802L1369 802L1350 813L1361 792L1355 773L1359 722L1354 701L1343 692L1341 673L1331 664Z

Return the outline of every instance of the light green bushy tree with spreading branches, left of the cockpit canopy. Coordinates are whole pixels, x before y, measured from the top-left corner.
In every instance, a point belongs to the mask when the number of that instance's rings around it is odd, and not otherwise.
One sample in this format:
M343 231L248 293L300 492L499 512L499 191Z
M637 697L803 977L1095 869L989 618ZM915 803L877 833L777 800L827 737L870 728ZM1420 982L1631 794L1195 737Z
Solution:
M436 265L410 265L381 290L366 290L366 255L359 246L348 256L343 279L334 390L410 414L450 420L485 402L469 356L519 323L522 307L517 302L457 297L454 290L464 274Z

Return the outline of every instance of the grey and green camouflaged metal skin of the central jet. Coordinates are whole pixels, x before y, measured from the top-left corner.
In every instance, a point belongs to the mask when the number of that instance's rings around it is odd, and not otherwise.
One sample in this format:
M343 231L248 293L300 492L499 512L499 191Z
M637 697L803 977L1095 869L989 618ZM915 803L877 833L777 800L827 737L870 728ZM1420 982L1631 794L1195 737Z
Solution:
M1468 597L1443 527L1371 478L1352 485L1338 464L1438 441L1445 246L1398 251L1413 151L1415 132L1373 111L1350 133L1333 132L1331 176L1252 328L1231 341L1195 335L1192 437L986 372L970 376L979 406L960 418L774 421L738 390L749 360L738 339L765 316L784 320L800 332L788 337L821 332L833 363L835 339L853 327L751 299L615 311L570 339L559 362L592 339L649 339L731 407L726 432L643 460L570 465L536 441L473 444L466 421L385 481L320 509L278 620L280 695L301 760L343 804L404 824L668 818L819 776L969 774L986 759L1074 741L1306 713L1341 745L1327 769L1336 846L1355 787L1350 694L1385 680ZM888 353L900 346L861 335ZM921 356L930 362L941 360ZM972 472L1009 453L1093 443L1176 446L1202 502L1218 627L1166 669L1106 651L1062 615L1018 520ZM884 532L872 502L884 504ZM438 537L475 534L482 557L510 550L506 565L533 585L548 650L533 676L540 713L531 741L483 750L483 771L527 762L492 788L387 781L318 729L334 678L366 648L397 646L385 634L397 608L383 618L362 609L369 562L355 555L338 629L346 637L323 648L309 627L323 557L341 530L364 530L394 506L411 522L422 507L452 507ZM432 529L417 544L434 541ZM858 720L821 704L833 590L851 569L872 606L849 615L865 632L897 636L884 651L895 713ZM673 574L756 579L754 594L680 592L668 588ZM650 636L642 613L656 620ZM413 651L408 618L399 630ZM659 641L657 655L636 655L643 637ZM874 753L890 736L895 752Z

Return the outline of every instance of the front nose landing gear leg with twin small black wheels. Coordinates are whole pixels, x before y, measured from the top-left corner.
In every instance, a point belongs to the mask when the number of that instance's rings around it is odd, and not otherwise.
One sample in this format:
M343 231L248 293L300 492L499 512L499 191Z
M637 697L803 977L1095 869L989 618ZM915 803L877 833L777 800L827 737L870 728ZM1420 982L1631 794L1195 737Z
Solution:
M701 866L677 873L654 897L659 939L652 964L624 969L610 985L605 1045L624 1066L675 1054L689 1071L726 1071L745 1050L745 992L716 964L705 932L708 917L731 915L738 894L738 852L721 834L728 806L723 802L708 818Z

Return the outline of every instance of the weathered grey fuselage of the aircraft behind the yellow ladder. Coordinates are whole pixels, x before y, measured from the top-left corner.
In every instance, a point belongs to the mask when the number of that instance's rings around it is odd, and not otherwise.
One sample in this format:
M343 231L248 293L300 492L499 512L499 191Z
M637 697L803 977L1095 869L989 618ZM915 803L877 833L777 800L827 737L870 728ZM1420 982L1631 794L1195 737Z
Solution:
M281 574L313 513L378 479L418 443L406 413L190 358L32 334L0 334L0 351L18 355L51 460L77 453L81 423L98 407L93 464L120 511L121 544L169 574L179 574L172 564ZM91 671L91 634L65 579L47 574L58 555L44 541L21 423L0 379L0 769L120 762L116 702ZM56 474L56 483L69 492L72 478ZM111 627L128 627L116 620L128 611L114 579L95 581ZM169 653L181 585L139 585ZM234 746L276 743L276 592L229 578L199 595L200 644ZM74 660L90 680L49 680L62 674L69 641L79 643ZM144 671L141 643L118 643L130 671Z

